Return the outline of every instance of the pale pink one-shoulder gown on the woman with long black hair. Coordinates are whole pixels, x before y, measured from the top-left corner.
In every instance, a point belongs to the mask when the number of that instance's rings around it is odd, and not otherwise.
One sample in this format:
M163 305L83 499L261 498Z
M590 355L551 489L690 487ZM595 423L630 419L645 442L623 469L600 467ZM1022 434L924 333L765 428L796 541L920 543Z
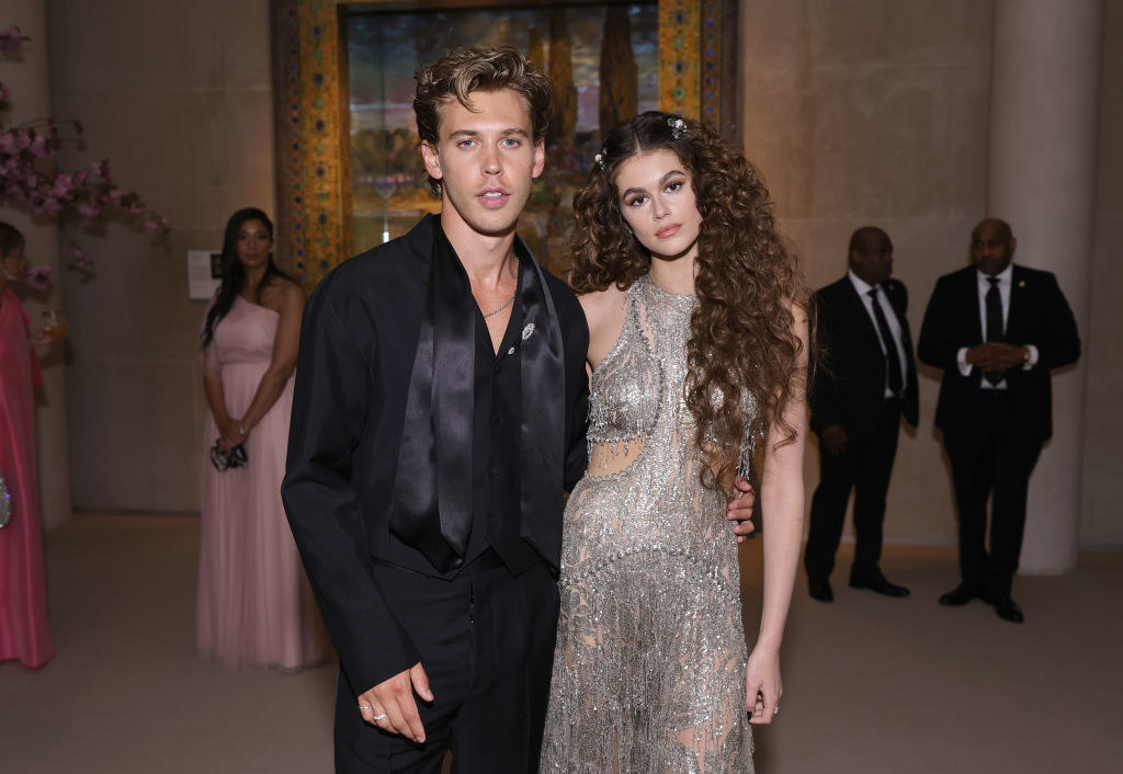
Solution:
M275 311L238 298L216 327L203 368L221 377L231 417L243 416L257 392L279 321ZM290 379L250 431L247 466L214 470L218 427L207 416L198 640L199 655L226 668L295 671L331 655L281 503L292 386Z

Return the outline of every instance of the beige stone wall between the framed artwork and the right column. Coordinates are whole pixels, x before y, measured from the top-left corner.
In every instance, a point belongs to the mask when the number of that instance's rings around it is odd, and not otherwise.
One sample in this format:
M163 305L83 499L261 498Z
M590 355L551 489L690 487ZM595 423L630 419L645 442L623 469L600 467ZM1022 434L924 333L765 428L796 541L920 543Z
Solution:
M915 340L935 279L964 265L985 215L990 4L746 1L741 10L745 148L807 283L842 276L853 229L884 228ZM887 540L955 539L932 429L938 380L921 367L921 421L901 437ZM811 441L809 500L819 480Z

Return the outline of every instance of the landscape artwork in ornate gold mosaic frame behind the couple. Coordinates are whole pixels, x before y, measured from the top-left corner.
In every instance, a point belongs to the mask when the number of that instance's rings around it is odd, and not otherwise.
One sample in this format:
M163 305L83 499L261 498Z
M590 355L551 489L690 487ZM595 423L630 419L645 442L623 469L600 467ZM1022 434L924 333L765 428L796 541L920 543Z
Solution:
M340 261L440 209L413 120L413 72L458 45L513 45L550 75L558 117L519 234L558 271L573 193L602 133L642 110L734 134L736 0L272 0L277 248L311 289Z

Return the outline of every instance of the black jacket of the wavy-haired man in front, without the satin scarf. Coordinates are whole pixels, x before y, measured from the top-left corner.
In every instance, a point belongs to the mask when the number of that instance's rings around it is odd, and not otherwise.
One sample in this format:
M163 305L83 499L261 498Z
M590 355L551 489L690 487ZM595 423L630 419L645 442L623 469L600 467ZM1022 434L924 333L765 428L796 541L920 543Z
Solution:
M337 266L309 299L301 329L282 498L341 666L357 690L419 661L372 566L440 575L390 530L432 235L424 218L405 236ZM565 411L568 489L586 463L588 327L573 291L548 273L546 281L564 342L565 406L542 410ZM519 407L510 411L518 422ZM535 518L541 515L521 515L523 523ZM554 567L559 558L542 557Z

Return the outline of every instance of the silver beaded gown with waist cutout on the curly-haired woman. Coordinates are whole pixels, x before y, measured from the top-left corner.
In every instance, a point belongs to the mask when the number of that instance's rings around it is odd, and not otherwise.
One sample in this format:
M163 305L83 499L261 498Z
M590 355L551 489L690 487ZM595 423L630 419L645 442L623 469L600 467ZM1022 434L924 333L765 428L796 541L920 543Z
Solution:
M593 373L590 450L641 452L566 506L542 772L752 772L737 541L683 398L694 303L634 282Z

